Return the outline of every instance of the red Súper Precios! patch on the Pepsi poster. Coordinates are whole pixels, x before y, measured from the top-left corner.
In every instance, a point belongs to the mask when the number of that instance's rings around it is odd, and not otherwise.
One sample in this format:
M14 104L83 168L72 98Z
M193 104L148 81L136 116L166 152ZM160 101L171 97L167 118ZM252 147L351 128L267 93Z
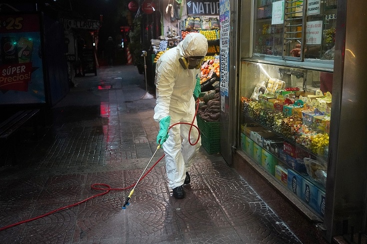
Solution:
M0 66L0 90L27 91L31 73L31 62Z

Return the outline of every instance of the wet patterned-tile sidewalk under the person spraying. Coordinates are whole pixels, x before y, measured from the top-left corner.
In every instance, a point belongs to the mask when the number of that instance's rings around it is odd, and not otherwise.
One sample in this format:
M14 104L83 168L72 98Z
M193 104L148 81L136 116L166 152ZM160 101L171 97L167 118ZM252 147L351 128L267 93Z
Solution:
M52 108L38 141L24 139L18 165L0 164L0 228L110 191L75 207L0 231L1 244L299 244L299 239L220 154L203 148L186 198L167 188L164 159L131 186L155 149L155 99L134 66L98 69ZM25 131L26 132L26 131ZM152 163L163 155L162 149ZM149 169L149 168L148 168Z

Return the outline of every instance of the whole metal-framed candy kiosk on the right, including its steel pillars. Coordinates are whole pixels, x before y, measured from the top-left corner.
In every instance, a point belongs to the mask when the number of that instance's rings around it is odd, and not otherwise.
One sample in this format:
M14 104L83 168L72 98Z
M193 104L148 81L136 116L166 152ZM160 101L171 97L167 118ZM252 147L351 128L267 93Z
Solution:
M329 243L366 234L366 7L357 0L230 4L225 159L245 179L250 168L266 178Z

